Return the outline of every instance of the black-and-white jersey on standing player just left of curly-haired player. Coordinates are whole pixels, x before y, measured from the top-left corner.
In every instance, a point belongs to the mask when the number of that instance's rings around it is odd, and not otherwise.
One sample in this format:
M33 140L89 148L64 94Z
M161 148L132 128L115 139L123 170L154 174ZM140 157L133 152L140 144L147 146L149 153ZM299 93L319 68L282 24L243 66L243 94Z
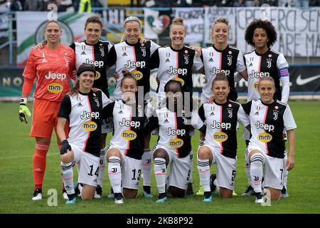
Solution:
M223 51L218 51L215 46L202 49L201 60L203 61L206 74L206 85L203 86L201 102L206 103L212 96L212 82L216 73L224 72L228 77L230 93L229 100L236 101L238 93L235 90L235 71L245 71L243 55L238 48L228 45Z

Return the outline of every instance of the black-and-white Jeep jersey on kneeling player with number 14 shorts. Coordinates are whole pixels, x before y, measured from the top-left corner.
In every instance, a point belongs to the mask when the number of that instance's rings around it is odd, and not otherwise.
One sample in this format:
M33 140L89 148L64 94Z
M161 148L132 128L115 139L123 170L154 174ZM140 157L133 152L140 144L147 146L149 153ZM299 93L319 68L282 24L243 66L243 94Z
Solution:
M100 156L102 108L111 100L101 90L90 93L66 94L58 117L69 121L68 142L97 157Z

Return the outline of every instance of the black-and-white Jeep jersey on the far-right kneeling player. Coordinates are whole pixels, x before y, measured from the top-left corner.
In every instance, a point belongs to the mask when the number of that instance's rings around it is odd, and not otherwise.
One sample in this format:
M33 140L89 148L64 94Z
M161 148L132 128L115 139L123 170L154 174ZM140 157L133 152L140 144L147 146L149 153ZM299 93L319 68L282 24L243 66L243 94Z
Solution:
M250 117L250 143L271 157L284 158L283 131L297 128L289 105L279 100L265 104L259 99L251 100L242 107Z

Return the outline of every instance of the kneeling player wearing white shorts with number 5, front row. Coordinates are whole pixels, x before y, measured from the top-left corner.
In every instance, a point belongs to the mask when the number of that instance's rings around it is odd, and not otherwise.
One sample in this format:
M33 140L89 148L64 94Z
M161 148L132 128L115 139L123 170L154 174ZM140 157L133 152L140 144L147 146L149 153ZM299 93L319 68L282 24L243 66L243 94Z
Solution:
M199 108L199 116L206 123L204 145L198 150L198 172L204 190L203 202L212 202L215 190L223 198L233 196L236 175L237 123L247 127L241 105L228 100L230 92L228 78L217 74L211 88L214 101ZM210 165L217 165L216 175L210 177Z

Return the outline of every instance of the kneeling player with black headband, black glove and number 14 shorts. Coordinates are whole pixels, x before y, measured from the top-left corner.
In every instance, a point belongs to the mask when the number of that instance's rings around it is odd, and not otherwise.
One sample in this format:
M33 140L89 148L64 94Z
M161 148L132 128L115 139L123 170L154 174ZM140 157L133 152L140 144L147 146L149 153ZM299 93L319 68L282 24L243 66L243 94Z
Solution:
M93 199L100 166L100 136L102 108L111 100L101 90L92 91L95 68L83 63L77 72L78 81L63 98L58 113L57 134L62 142L61 175L68 194L66 204L74 204L73 166L79 162L78 182L82 184L82 199ZM68 139L65 123L69 122Z

